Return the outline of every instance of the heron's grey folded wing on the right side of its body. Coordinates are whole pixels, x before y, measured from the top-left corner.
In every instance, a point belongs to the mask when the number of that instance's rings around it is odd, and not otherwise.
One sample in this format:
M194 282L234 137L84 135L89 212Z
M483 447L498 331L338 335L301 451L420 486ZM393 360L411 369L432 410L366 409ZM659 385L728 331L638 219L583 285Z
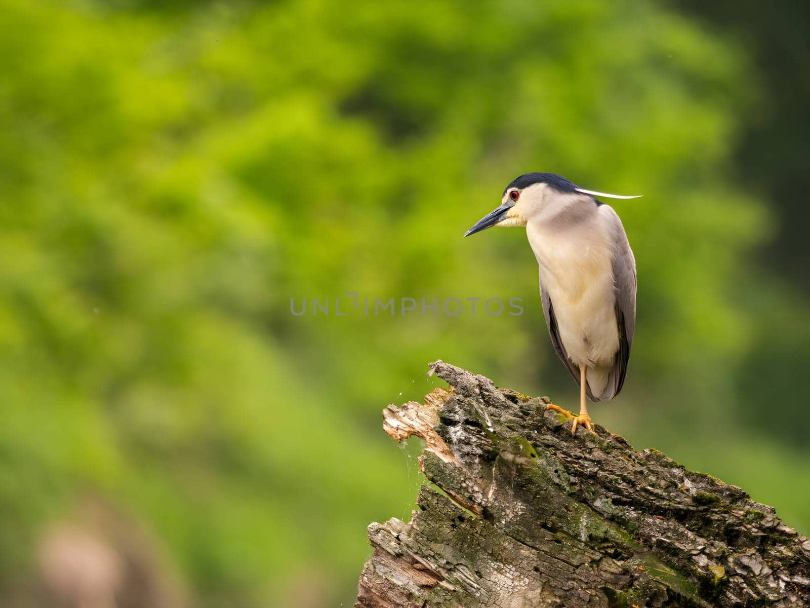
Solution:
M619 325L619 352L608 379L608 387L614 387L613 395L603 398L612 399L619 394L627 375L627 363L630 359L630 347L633 345L633 332L636 330L636 259L621 225L619 216L610 210L614 218L613 242L613 289L616 293L616 323Z

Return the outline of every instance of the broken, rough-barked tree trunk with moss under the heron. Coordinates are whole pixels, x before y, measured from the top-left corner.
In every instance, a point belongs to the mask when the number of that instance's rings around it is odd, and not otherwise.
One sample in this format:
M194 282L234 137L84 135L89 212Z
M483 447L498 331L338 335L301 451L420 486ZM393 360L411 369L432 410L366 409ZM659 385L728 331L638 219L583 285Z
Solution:
M411 522L369 526L356 606L808 606L810 540L740 488L484 376L393 405L425 442Z

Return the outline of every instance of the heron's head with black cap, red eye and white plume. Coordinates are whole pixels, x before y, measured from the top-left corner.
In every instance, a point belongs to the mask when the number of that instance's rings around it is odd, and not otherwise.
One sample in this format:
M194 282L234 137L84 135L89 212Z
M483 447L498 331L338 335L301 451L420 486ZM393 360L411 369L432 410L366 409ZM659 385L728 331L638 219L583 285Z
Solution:
M525 173L506 186L501 206L489 212L464 233L465 237L492 226L525 226L544 208L567 203L572 198L603 196L608 199L637 199L585 190L556 173Z

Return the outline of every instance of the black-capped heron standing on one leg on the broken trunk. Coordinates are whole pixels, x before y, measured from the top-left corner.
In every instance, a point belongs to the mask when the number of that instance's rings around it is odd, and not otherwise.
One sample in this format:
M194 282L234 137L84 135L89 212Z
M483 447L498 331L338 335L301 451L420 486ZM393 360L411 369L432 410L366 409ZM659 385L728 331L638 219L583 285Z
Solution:
M557 356L580 385L579 415L555 409L595 433L587 399L613 399L627 375L636 328L636 260L619 216L602 198L556 173L525 173L501 205L465 237L492 226L525 227L539 267L540 301ZM586 399L587 398L587 399Z

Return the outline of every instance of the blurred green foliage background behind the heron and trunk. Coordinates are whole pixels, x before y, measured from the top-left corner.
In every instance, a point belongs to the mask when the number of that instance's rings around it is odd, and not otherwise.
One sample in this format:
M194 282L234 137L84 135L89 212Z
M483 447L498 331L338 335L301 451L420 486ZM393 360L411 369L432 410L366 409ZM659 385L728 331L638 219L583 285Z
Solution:
M522 231L461 238L531 170L645 195L595 421L810 533L807 9L719 5L4 2L2 605L351 605L427 362L576 402Z

